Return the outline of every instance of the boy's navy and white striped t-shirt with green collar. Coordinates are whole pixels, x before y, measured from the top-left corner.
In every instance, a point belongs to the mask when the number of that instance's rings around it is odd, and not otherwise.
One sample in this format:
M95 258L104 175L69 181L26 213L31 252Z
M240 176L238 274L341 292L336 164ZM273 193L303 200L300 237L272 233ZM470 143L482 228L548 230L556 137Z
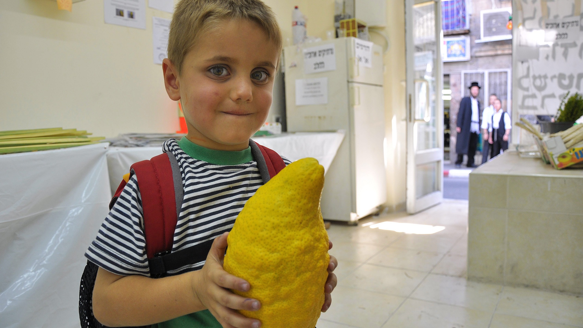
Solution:
M174 139L164 142L163 150L170 151L178 160L184 186L172 252L230 231L245 202L263 184L250 148L240 152L213 151L182 138L179 142ZM282 159L286 165L290 163ZM142 200L135 175L111 208L85 256L111 273L150 275ZM202 261L169 273L199 270L204 264Z

